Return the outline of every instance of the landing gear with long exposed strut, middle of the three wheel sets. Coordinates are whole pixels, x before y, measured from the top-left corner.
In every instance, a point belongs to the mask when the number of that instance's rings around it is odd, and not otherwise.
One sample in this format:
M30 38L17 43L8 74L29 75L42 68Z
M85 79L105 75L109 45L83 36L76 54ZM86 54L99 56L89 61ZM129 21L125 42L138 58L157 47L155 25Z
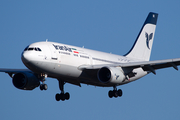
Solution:
M64 84L65 84L65 82L62 81L62 80L58 80L58 81L59 81L59 89L61 90L61 93L56 94L56 96L55 96L56 100L57 101L69 100L70 94L68 92L66 92L66 93L64 92Z

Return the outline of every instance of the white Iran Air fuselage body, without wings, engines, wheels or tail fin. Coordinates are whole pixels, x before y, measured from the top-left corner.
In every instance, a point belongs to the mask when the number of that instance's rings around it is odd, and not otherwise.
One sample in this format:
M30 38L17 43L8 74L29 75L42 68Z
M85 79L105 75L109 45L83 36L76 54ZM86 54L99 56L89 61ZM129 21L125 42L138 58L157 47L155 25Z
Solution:
M93 73L92 75L83 74L80 66L130 63L138 60L55 42L37 42L29 45L28 49L23 51L22 61L31 71L37 74L44 73L49 77L63 79L72 84L85 83L95 86L113 86L112 84L101 83L97 79L97 75ZM136 75L127 79L123 84L147 74L141 68L133 71Z

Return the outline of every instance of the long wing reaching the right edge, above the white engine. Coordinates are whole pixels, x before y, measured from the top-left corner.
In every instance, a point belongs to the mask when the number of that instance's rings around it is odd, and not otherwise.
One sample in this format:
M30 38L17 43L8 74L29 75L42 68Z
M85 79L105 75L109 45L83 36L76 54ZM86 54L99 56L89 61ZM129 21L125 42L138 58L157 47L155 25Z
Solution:
M156 74L155 70L173 67L178 70L178 65L180 65L180 58L167 59L167 60L156 60L156 61L142 61L142 62L131 62L131 63L119 63L119 64L103 64L103 65L82 65L79 69L100 69L102 67L122 67L122 68L142 68L144 71L150 71Z

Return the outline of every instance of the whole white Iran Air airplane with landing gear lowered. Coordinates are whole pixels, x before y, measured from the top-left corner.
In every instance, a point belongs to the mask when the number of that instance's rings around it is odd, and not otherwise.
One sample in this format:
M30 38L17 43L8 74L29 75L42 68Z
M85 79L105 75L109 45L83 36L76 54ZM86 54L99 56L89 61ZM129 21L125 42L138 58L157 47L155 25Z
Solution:
M0 68L9 74L13 85L21 90L47 90L47 77L59 81L60 93L57 101L70 99L64 91L65 83L81 87L81 84L113 87L109 98L121 97L123 92L117 86L133 82L156 70L173 67L178 70L180 58L149 61L158 14L150 12L127 54L120 56L57 42L36 42L28 45L21 54L21 60L28 69Z

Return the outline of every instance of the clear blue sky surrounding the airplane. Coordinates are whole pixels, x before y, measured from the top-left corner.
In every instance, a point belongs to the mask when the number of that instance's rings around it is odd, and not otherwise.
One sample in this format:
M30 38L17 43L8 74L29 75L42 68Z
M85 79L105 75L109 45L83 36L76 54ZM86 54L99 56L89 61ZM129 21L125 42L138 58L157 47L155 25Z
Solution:
M180 58L180 1L1 0L0 68L26 68L24 48L49 41L123 55L133 45L149 12L159 14L151 60ZM88 85L65 85L68 101L55 100L58 81L47 91L16 89L0 73L0 120L179 120L180 71L167 68L118 86L121 98Z

